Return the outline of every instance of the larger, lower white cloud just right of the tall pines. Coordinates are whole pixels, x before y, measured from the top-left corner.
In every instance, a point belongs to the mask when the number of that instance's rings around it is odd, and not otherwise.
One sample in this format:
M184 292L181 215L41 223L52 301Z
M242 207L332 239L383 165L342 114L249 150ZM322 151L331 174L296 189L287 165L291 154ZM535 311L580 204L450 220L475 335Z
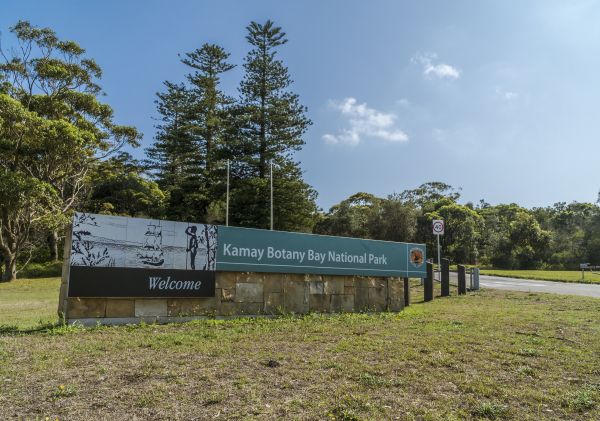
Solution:
M383 113L367 104L359 104L355 98L342 101L330 101L331 108L347 119L349 127L338 134L324 134L323 140L330 144L358 145L362 137L374 137L386 142L406 142L408 135L394 127L397 116Z

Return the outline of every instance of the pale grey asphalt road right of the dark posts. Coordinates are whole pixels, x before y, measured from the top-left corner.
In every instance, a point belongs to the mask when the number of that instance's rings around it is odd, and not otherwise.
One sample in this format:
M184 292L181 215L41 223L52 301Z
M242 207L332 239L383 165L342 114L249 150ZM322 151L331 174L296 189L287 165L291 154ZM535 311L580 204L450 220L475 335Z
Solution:
M456 284L456 273L450 274L450 282ZM481 288L505 289L509 291L549 292L554 294L583 295L600 298L600 284L576 284L572 282L538 281L536 279L504 278L501 276L480 275ZM467 288L469 275L467 275Z

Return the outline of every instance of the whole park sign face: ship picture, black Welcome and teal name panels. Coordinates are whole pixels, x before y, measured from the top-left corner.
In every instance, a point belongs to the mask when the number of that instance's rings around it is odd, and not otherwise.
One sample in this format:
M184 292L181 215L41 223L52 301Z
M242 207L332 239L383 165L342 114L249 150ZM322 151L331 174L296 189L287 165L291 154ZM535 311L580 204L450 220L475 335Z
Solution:
M76 213L69 297L214 297L217 272L426 277L423 244Z

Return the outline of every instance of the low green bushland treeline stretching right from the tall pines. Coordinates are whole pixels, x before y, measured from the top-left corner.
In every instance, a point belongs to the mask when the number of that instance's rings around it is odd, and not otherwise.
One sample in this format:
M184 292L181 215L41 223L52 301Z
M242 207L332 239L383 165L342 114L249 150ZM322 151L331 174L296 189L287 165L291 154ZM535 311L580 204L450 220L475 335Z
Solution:
M426 243L436 250L431 221L443 219L444 257L454 263L505 269L578 269L600 264L600 207L556 203L526 209L514 203L460 204L460 191L426 183L387 198L357 193L320 215L320 234Z

